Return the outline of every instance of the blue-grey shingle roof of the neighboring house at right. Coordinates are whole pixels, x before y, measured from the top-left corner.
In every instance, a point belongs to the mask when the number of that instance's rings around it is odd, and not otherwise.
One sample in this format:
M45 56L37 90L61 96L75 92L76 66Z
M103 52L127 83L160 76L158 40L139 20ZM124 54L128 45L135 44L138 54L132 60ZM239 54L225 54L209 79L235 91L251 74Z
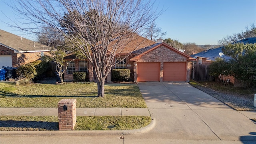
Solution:
M245 38L245 39L239 40L235 43L254 44L254 43L256 43L256 37ZM192 55L192 57L206 58L208 61L212 61L212 60L215 60L217 57L220 57L219 53L222 52L222 48L224 48L224 46L221 46L219 48L209 49L206 51L202 51L202 52ZM226 55L223 55L222 58L224 58L225 60L232 59L231 57L226 56Z

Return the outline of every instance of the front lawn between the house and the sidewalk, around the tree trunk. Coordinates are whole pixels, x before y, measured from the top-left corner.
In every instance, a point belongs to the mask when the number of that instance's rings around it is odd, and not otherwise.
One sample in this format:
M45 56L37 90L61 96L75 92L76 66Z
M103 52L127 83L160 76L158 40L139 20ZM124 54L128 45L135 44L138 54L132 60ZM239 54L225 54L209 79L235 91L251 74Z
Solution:
M97 97L97 84L29 84L14 86L0 83L0 107L56 108L64 98L76 98L77 108L146 108L136 84L107 84L105 98Z

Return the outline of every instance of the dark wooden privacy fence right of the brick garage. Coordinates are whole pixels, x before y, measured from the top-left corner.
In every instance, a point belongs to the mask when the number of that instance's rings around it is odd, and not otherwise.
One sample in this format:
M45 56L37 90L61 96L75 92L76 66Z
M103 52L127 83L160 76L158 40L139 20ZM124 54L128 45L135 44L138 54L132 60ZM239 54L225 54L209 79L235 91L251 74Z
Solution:
M197 82L209 82L214 80L215 77L209 75L209 65L210 64L208 63L193 63L191 72L192 80L195 80Z

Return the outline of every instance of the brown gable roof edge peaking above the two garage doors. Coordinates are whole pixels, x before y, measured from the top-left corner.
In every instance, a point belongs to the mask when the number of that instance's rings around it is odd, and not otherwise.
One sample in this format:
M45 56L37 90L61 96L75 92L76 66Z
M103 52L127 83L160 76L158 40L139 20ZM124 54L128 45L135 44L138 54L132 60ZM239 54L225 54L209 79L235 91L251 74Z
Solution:
M169 46L168 44L162 42L162 43L156 43L156 44L153 44L151 46L148 46L148 47L145 47L141 50L136 50L134 51L133 53L136 53L136 54L139 54L138 56L134 56L133 58L130 59L130 61L137 61L141 56L143 56L144 54L156 49L156 48L159 48L160 46L165 46L166 48L169 48L170 50L188 58L188 60L196 60L195 58L192 58L191 56L188 56L187 54L184 54L183 52L180 52L179 50L173 48L172 46ZM143 51L142 51L143 50Z

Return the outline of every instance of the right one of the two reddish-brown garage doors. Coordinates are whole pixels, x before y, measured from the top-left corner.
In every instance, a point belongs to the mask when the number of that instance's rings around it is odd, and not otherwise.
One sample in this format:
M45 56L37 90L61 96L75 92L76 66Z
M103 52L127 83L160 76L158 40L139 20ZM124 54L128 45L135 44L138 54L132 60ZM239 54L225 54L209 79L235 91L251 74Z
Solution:
M163 81L186 81L186 62L164 62Z

